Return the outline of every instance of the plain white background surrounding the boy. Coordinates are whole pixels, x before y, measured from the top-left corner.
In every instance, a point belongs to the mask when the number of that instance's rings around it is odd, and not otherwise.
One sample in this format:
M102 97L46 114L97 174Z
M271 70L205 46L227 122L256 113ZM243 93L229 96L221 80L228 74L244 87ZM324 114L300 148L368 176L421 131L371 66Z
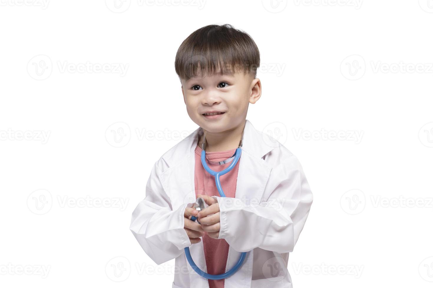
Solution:
M313 191L294 287L431 287L429 1L0 0L0 286L171 287L174 260L156 266L129 222L197 128L179 45L229 23L261 53L247 119Z

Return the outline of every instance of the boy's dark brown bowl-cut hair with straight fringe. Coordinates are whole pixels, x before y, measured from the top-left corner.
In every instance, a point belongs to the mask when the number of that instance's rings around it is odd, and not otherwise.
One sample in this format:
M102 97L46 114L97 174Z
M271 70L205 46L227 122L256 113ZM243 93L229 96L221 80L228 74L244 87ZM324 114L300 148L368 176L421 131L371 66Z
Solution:
M179 46L174 69L179 79L188 80L200 71L204 76L240 70L257 75L259 48L252 38L232 25L207 25L192 32Z

